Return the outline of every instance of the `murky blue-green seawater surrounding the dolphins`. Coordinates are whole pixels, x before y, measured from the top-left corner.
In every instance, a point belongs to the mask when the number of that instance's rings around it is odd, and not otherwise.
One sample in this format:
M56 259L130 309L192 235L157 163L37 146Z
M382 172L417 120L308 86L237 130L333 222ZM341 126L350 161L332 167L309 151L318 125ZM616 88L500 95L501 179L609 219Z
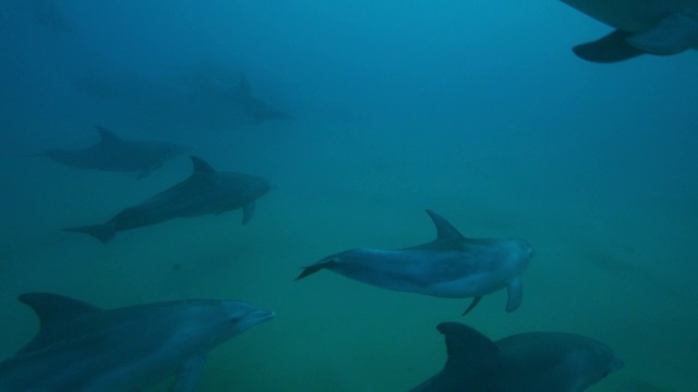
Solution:
M212 297L278 316L212 352L201 391L405 391L442 367L446 320L598 339L626 368L595 392L698 391L698 53L598 65L569 50L607 32L555 0L2 2L0 357L37 328L21 293ZM233 123L192 87L241 74L294 120ZM276 188L245 226L234 211L107 245L62 232L191 170L28 157L88 146L95 124ZM516 313L505 292L461 319L468 301L292 281L338 250L430 241L425 208L535 247Z

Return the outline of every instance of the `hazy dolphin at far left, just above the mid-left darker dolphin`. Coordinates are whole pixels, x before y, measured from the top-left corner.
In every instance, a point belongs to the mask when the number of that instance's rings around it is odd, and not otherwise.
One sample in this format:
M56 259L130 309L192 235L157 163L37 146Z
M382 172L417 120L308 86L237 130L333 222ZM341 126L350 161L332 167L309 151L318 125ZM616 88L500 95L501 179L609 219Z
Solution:
M50 149L39 156L74 168L139 172L139 179L191 147L164 142L124 140L97 126L99 143L84 149Z

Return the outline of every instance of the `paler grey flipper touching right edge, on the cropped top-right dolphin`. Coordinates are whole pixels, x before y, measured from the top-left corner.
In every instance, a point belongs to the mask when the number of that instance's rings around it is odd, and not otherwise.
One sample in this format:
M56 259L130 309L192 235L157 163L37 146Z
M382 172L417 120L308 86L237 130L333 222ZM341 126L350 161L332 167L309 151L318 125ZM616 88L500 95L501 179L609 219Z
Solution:
M652 28L628 37L628 44L651 54L681 53L698 46L698 21L682 14L662 17Z

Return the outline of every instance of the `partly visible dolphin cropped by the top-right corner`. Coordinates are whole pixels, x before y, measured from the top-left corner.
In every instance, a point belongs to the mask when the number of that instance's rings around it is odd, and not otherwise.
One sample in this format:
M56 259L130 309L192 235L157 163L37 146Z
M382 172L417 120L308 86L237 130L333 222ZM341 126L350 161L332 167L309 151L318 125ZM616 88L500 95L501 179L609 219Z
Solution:
M698 0L562 0L616 28L573 50L581 59L611 63L642 53L698 49Z

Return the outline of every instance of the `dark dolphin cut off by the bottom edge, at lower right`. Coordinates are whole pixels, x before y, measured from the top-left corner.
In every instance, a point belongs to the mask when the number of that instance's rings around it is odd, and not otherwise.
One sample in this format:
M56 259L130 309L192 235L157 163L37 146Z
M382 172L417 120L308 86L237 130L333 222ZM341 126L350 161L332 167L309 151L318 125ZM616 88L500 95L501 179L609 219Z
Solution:
M492 342L462 323L436 328L446 335L446 365L411 392L580 392L624 366L582 335L529 332Z

